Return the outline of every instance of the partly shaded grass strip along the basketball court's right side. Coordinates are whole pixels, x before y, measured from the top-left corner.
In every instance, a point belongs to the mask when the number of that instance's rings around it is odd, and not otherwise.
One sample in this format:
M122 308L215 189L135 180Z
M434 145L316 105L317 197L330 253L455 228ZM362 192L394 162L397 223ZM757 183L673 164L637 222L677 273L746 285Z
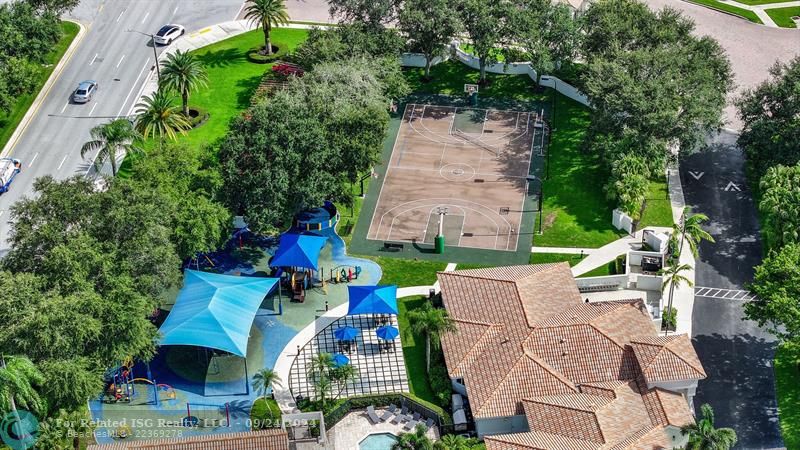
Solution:
M589 127L589 109L564 96L555 100L555 123L548 149L542 234L533 236L541 247L602 247L619 238L611 225L613 205L602 187L606 174L600 158L582 150ZM539 230L537 214L536 230Z

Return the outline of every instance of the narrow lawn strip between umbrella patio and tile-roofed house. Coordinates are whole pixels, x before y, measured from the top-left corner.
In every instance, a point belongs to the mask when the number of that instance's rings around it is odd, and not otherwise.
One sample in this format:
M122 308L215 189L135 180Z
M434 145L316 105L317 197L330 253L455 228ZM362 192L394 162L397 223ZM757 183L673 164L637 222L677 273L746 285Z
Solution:
M428 382L425 368L425 340L423 337L416 336L411 332L408 322L408 312L421 308L426 301L428 300L425 297L398 298L397 309L399 314L397 315L397 322L402 333L403 357L406 360L409 390L415 396L438 405L439 401Z

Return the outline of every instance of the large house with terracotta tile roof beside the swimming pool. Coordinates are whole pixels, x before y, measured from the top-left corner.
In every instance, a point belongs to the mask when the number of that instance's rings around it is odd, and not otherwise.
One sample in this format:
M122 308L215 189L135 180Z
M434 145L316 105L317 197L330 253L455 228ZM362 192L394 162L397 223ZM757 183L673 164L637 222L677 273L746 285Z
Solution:
M438 274L455 391L488 449L669 449L706 377L642 299L587 303L567 263Z

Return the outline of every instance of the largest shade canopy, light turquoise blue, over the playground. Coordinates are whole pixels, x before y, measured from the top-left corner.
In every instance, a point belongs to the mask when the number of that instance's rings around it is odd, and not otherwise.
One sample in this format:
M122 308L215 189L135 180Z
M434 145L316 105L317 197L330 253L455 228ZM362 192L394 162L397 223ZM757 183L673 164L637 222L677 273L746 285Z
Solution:
M159 345L193 345L245 357L253 319L277 282L187 270L175 306L158 330Z

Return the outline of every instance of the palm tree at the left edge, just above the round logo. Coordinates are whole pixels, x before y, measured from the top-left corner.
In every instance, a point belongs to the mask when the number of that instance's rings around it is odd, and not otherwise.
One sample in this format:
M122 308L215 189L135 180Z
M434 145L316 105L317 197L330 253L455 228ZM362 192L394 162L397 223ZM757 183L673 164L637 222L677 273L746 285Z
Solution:
M0 411L11 411L21 422L17 405L28 411L40 413L44 410L35 385L44 383L39 369L24 356L0 355Z

